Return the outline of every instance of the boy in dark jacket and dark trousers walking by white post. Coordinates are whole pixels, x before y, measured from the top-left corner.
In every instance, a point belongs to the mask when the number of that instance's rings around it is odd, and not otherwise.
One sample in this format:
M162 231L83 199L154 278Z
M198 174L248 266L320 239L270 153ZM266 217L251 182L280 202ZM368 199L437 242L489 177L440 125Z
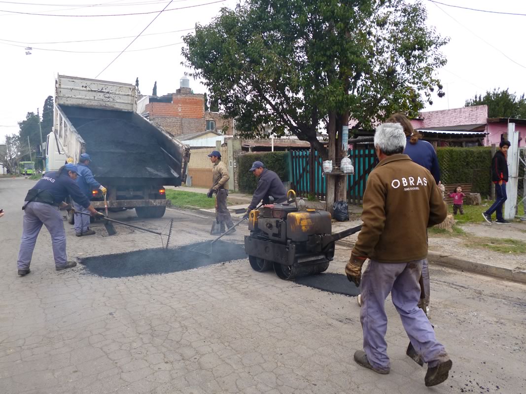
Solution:
M490 206L490 209L482 213L484 220L491 224L491 215L493 212L497 214L497 224L510 224L504 220L502 216L502 205L508 199L506 194L506 183L508 182L508 160L507 153L510 147L510 141L500 141L500 150L495 153L491 159L491 180L495 184L495 202Z

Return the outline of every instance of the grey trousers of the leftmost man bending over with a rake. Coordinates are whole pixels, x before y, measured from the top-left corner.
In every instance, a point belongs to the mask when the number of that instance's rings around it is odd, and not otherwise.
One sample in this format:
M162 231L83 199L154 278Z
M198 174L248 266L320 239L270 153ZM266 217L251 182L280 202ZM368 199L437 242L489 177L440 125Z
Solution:
M22 241L18 252L18 269L29 268L36 239L43 224L51 235L55 266L63 267L67 264L66 233L58 207L42 202L30 202L26 204L24 210Z

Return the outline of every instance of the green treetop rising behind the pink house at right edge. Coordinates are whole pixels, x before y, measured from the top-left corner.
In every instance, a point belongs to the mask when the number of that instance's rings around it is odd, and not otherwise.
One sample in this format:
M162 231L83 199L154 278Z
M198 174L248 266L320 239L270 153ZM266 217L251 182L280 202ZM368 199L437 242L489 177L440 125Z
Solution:
M489 118L522 118L526 119L526 99L524 94L517 97L510 93L509 88L500 88L486 91L484 96L475 95L466 100L466 107L487 105Z

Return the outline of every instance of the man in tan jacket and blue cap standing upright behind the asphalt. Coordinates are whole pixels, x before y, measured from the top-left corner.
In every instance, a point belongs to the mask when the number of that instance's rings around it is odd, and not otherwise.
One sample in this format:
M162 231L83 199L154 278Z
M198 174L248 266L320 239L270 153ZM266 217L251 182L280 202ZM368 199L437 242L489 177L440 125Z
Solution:
M216 221L220 224L221 234L225 232L225 225L227 229L231 229L234 226L232 222L232 217L227 208L227 197L228 197L228 180L230 175L228 175L228 168L224 162L221 161L221 153L215 150L211 152L208 157L210 161L214 164L214 169L212 170L212 187L208 191L208 198L216 195ZM228 234L232 234L236 229L232 229Z

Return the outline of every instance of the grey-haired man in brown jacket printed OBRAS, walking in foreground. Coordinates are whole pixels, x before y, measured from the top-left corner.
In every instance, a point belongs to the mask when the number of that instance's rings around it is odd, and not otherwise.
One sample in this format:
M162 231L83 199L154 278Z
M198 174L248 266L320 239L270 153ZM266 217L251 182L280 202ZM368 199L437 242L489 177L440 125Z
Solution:
M385 299L391 293L411 344L428 364L426 386L438 385L448 378L452 362L418 307L419 278L428 254L426 229L446 218L447 206L429 170L402 154L406 135L399 123L380 125L374 144L380 162L367 180L362 230L345 267L359 286L362 265L370 259L361 281L363 350L354 358L379 374L389 373Z

